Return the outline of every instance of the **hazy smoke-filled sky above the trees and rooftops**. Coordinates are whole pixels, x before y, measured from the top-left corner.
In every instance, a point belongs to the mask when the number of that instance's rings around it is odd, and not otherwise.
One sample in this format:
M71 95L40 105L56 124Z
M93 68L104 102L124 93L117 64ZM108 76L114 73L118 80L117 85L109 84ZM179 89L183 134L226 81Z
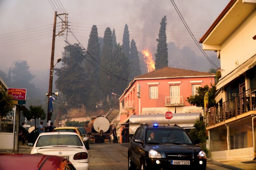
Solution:
M57 0L52 0L52 2L57 2ZM170 0L60 0L58 2L63 4L69 14L70 29L85 48L92 25L97 25L100 37L103 37L106 27L110 27L111 30L115 28L117 42L122 45L124 25L127 23L130 41L134 39L138 51L144 48L150 49L154 57L160 21L166 16L167 43L174 43L172 47L168 47L169 63L180 62L177 56L174 57L175 60L170 61L174 59L172 57L174 54L186 56L188 53L204 58L186 31ZM229 0L175 0L175 2L199 41ZM0 70L7 72L16 61L25 60L32 72L46 74L47 84L53 20L54 10L48 0L0 0ZM57 23L59 21L57 19ZM65 46L64 39L62 36L56 37L54 63L62 55ZM70 33L68 33L68 40L71 43L78 43ZM175 50L175 53L170 49ZM214 52L207 53L210 56L215 55ZM208 61L205 60L205 62ZM209 63L205 64L209 65ZM57 66L61 65L57 64ZM198 70L197 65L192 65L190 68Z

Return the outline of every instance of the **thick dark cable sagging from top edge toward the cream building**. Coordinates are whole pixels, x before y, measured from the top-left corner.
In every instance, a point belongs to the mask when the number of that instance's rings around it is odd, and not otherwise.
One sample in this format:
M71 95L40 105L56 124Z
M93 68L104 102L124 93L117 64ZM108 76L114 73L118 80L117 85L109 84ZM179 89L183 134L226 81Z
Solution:
M210 57L208 57L208 55L204 52L204 50L202 49L202 47L198 44L198 42L196 41L196 38L194 37L192 31L190 30L190 28L188 27L186 21L184 20L184 18L182 17L182 14L180 13L178 7L176 6L174 0L171 0L172 5L174 6L176 12L178 13L182 23L185 25L186 29L188 30L188 33L191 35L192 39L194 40L194 42L196 43L197 47L200 49L200 51L203 53L204 57L206 57L206 59L212 64L214 65L216 68L220 69L220 67L218 67L211 59Z

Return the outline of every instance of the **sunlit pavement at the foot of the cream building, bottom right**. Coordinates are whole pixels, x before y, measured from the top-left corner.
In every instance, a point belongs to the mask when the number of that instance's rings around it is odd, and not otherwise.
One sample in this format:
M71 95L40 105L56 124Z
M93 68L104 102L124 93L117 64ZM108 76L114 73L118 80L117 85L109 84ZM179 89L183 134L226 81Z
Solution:
M222 166L224 168L229 168L233 170L256 170L256 160L248 160L248 159L213 160L213 159L207 158L207 163Z

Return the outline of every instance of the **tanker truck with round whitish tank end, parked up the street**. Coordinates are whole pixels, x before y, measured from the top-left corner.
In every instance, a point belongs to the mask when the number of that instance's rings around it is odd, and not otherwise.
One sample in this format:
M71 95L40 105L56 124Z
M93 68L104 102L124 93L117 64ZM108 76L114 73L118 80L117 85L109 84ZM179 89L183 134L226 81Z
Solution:
M98 116L92 118L92 121L88 123L88 127L85 128L90 135L90 143L109 143L111 126L106 117Z

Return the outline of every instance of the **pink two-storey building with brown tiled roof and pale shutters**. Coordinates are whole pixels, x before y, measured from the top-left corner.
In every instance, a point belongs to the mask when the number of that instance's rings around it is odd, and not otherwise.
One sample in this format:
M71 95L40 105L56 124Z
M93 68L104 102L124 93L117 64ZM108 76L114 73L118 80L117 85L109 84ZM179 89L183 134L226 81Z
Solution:
M128 127L130 115L166 113L195 113L202 108L190 106L186 98L196 93L196 87L214 83L214 74L163 67L134 78L120 101L120 125ZM127 138L128 139L128 138ZM120 139L121 141L121 139Z

